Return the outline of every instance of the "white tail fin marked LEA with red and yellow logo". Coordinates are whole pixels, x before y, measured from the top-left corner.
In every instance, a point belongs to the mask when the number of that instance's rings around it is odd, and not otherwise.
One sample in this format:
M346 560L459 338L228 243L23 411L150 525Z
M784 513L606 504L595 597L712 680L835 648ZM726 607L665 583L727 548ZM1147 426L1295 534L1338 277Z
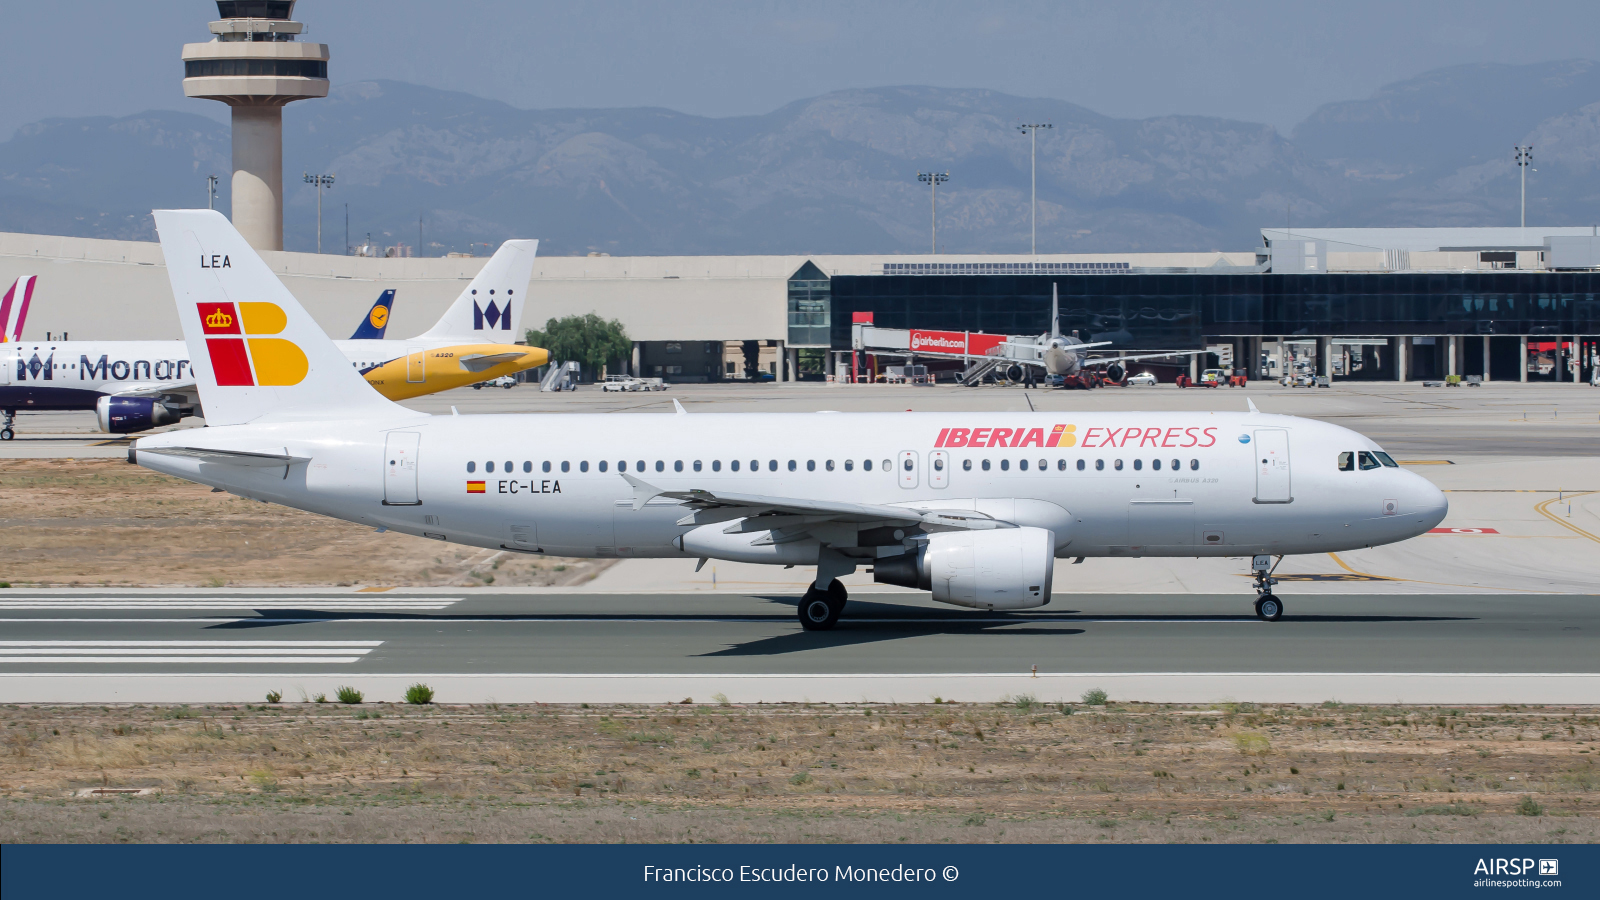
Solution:
M222 213L155 210L206 424L403 415Z

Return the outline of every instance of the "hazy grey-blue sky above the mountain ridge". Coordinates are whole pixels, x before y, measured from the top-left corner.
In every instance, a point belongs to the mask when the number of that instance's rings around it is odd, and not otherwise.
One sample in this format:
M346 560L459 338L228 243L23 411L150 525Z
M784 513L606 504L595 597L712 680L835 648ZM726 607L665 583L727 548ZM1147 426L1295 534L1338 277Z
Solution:
M18 3L0 53L0 139L54 115L187 109L179 45L202 0ZM520 107L770 112L840 88L938 85L1058 98L1120 117L1291 128L1322 102L1458 62L1595 58L1600 2L301 0L334 83L397 78Z

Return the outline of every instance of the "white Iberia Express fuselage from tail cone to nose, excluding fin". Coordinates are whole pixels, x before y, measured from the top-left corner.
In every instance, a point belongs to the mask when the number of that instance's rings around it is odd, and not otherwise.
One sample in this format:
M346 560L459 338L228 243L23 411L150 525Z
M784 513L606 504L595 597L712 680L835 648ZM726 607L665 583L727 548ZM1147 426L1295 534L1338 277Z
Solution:
M144 453L197 440L309 461ZM1051 440L1067 445L1042 445ZM680 549L696 528L678 524L685 508L635 509L619 468L675 492L978 509L1048 528L1059 557L1344 551L1426 533L1446 511L1405 469L1341 471L1341 453L1379 450L1366 437L1258 413L397 415L210 428L136 448L142 466L243 496L550 556L816 562L814 540L760 546L760 533L722 525L710 552Z

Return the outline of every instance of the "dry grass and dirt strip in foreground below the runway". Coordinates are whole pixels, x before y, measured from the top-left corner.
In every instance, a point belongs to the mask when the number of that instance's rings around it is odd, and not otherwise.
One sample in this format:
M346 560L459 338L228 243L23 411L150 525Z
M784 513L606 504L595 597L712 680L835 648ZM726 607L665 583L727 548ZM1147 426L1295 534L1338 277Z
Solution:
M1600 708L5 706L0 842L1594 842ZM83 790L152 788L80 799Z

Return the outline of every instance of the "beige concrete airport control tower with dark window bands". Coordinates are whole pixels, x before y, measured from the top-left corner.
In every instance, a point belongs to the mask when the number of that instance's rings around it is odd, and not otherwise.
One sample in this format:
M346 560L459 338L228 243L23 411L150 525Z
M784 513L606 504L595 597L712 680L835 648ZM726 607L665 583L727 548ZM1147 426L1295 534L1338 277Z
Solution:
M184 96L234 107L234 227L283 250L283 106L328 96L328 45L302 43L294 0L218 0L208 43L184 45Z

